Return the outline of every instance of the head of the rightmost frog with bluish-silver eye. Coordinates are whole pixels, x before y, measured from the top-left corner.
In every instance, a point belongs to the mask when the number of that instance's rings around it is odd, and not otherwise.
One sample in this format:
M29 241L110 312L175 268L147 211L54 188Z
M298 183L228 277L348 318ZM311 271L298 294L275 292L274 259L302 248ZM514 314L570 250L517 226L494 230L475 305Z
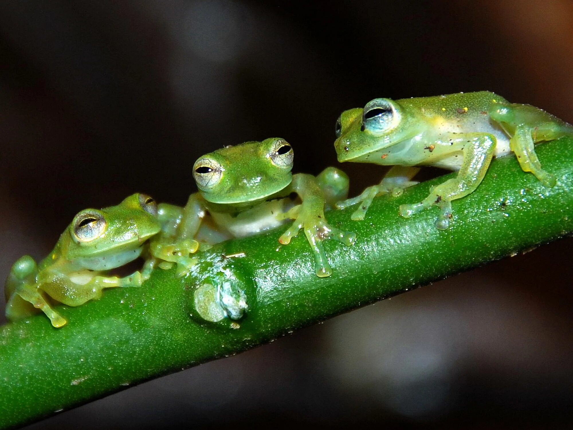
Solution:
M372 162L366 159L369 154L402 142L414 128L407 110L390 99L374 99L364 108L344 111L336 121L338 161Z

